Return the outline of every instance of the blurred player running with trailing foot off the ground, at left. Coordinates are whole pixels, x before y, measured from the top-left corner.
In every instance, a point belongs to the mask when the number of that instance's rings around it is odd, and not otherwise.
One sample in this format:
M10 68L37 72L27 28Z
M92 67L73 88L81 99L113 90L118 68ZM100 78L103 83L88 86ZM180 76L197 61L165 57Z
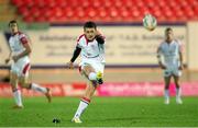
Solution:
M29 70L31 68L29 57L31 54L31 47L26 35L19 31L16 21L10 21L9 27L12 35L9 38L10 55L8 59L6 59L6 63L12 60L10 83L15 101L14 108L23 108L21 91L18 89L18 84L22 88L43 93L47 97L48 102L51 102L50 89L42 88L36 83L28 82Z

